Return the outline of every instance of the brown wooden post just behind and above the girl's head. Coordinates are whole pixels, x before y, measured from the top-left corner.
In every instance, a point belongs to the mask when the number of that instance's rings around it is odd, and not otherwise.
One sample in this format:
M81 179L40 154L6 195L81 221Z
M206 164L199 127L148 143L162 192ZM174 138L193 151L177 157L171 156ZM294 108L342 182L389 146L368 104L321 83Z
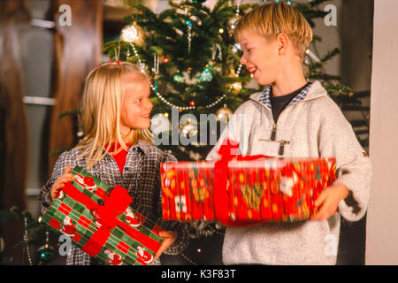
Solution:
M71 7L71 25L62 26L65 12ZM54 91L57 104L50 118L50 152L65 149L77 142L76 120L72 116L58 119L65 111L79 108L84 80L101 62L103 3L100 0L54 1L56 33L54 38ZM59 20L61 19L61 21ZM50 157L49 174L58 156Z

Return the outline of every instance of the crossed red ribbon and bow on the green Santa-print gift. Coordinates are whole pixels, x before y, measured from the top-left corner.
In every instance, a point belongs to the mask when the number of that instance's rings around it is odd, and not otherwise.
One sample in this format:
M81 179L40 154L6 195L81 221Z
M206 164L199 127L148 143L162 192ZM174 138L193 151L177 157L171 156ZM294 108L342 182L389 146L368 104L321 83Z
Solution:
M99 205L89 198L88 195L84 195L76 187L73 187L71 183L66 183L62 190L66 195L72 197L73 200L85 204L87 209L95 215L98 223L101 224L101 227L96 230L93 236L81 248L88 255L96 256L103 249L103 245L108 240L111 230L115 226L122 228L129 236L136 241L140 241L146 248L153 251L159 249L160 243L158 241L139 233L132 226L117 218L133 202L133 198L128 195L126 188L119 185L114 187L111 190L111 194L104 198L103 205Z

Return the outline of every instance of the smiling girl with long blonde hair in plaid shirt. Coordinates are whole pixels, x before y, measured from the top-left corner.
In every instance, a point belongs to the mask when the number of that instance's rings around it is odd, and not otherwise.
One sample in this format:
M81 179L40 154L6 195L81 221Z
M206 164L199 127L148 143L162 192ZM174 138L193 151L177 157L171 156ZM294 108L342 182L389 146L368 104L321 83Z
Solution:
M134 202L161 216L160 164L176 158L157 149L149 133L149 81L131 63L98 66L88 74L81 100L84 138L58 157L52 176L42 187L39 199L47 210L65 183L73 180L71 168L79 165L111 187L125 187ZM153 264L163 252L179 254L188 244L187 227L168 222L165 237ZM66 264L96 264L74 247Z

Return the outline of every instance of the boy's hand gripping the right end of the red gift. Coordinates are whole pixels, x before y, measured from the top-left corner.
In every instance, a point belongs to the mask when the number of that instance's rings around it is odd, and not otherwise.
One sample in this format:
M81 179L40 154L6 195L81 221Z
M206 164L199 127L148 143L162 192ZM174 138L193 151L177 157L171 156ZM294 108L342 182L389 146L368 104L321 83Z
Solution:
M318 206L318 213L311 217L311 220L326 220L337 210L342 199L348 196L348 188L342 184L326 187L318 196L315 205Z

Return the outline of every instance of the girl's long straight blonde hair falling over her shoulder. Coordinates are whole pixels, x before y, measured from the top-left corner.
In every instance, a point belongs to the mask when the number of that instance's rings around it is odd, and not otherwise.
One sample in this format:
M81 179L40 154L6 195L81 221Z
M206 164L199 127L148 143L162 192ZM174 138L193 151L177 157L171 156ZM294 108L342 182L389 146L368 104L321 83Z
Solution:
M122 80L140 75L147 80L138 66L128 62L102 65L88 74L80 102L84 138L75 147L81 149L80 158L88 157L88 168L101 160L115 142L120 144L115 154L127 149L124 138L132 144L139 140L152 143L149 129L132 128L125 137L120 133L120 109L126 92Z

